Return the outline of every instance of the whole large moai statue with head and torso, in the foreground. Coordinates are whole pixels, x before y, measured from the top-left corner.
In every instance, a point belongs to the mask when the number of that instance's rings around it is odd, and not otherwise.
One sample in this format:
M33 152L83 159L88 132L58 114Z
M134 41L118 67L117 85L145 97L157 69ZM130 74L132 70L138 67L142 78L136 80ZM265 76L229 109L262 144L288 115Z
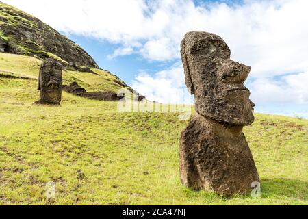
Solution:
M181 181L226 197L246 194L260 181L242 133L255 120L244 86L251 67L230 55L215 34L190 32L181 42L185 82L196 103L196 114L181 134Z

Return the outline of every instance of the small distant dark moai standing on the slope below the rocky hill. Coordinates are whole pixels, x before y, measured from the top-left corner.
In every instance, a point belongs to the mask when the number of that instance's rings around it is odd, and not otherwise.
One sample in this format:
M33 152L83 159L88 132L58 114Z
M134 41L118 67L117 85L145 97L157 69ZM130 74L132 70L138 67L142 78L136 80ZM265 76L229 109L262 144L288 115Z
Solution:
M60 105L62 96L62 64L49 59L40 66L38 75L40 100L34 104Z

